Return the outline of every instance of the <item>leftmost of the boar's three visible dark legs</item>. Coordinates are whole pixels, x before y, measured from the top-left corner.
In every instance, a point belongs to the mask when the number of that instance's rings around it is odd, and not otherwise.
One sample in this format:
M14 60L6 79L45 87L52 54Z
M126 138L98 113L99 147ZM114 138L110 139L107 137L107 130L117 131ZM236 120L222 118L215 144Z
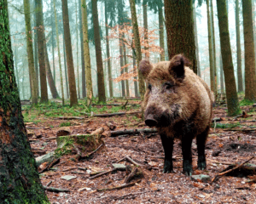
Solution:
M165 134L160 134L162 144L165 151L165 166L164 166L164 173L172 173L172 150L173 150L173 138L166 137Z

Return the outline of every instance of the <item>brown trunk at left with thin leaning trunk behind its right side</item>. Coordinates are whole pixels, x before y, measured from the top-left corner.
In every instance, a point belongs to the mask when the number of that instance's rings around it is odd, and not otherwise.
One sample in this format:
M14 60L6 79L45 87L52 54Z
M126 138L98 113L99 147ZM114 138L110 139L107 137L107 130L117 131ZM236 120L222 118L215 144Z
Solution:
M48 91L46 81L46 66L44 60L44 16L42 0L36 1L37 5L37 27L38 27L38 59L40 72L41 103L48 102Z

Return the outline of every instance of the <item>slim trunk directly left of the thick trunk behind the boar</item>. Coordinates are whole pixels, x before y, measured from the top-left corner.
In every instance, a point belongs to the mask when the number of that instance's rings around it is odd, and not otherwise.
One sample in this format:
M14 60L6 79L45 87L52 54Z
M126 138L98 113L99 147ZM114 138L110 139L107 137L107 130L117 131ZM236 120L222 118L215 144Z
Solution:
M158 3L158 19L159 19L159 40L160 48L162 52L160 53L160 61L165 61L165 37L164 37L164 19L163 19L163 8L162 3Z

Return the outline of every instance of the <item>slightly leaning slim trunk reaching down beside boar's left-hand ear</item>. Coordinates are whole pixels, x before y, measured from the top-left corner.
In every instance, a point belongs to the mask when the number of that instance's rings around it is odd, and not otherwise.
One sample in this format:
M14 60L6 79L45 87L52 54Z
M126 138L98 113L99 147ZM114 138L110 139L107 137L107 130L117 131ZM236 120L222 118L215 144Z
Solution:
M143 81L143 74L141 71L138 70L139 63L142 60L142 49L141 49L140 36L139 36L139 31L138 31L135 2L134 2L134 0L129 0L129 1L130 1L130 8L131 8L131 21L132 21L132 27L133 27L133 33L134 33L134 43L135 43L135 49L136 49L139 92L141 95L141 99L143 101L144 94L145 94L145 85L144 85L144 81Z

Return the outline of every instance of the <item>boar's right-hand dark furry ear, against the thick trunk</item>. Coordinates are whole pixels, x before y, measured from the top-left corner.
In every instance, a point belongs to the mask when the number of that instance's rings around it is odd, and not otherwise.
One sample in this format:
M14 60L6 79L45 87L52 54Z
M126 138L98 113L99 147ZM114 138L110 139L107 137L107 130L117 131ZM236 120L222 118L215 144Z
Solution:
M175 55L169 65L170 74L177 79L183 79L185 77L184 65L190 65L189 59L186 59L183 54Z

